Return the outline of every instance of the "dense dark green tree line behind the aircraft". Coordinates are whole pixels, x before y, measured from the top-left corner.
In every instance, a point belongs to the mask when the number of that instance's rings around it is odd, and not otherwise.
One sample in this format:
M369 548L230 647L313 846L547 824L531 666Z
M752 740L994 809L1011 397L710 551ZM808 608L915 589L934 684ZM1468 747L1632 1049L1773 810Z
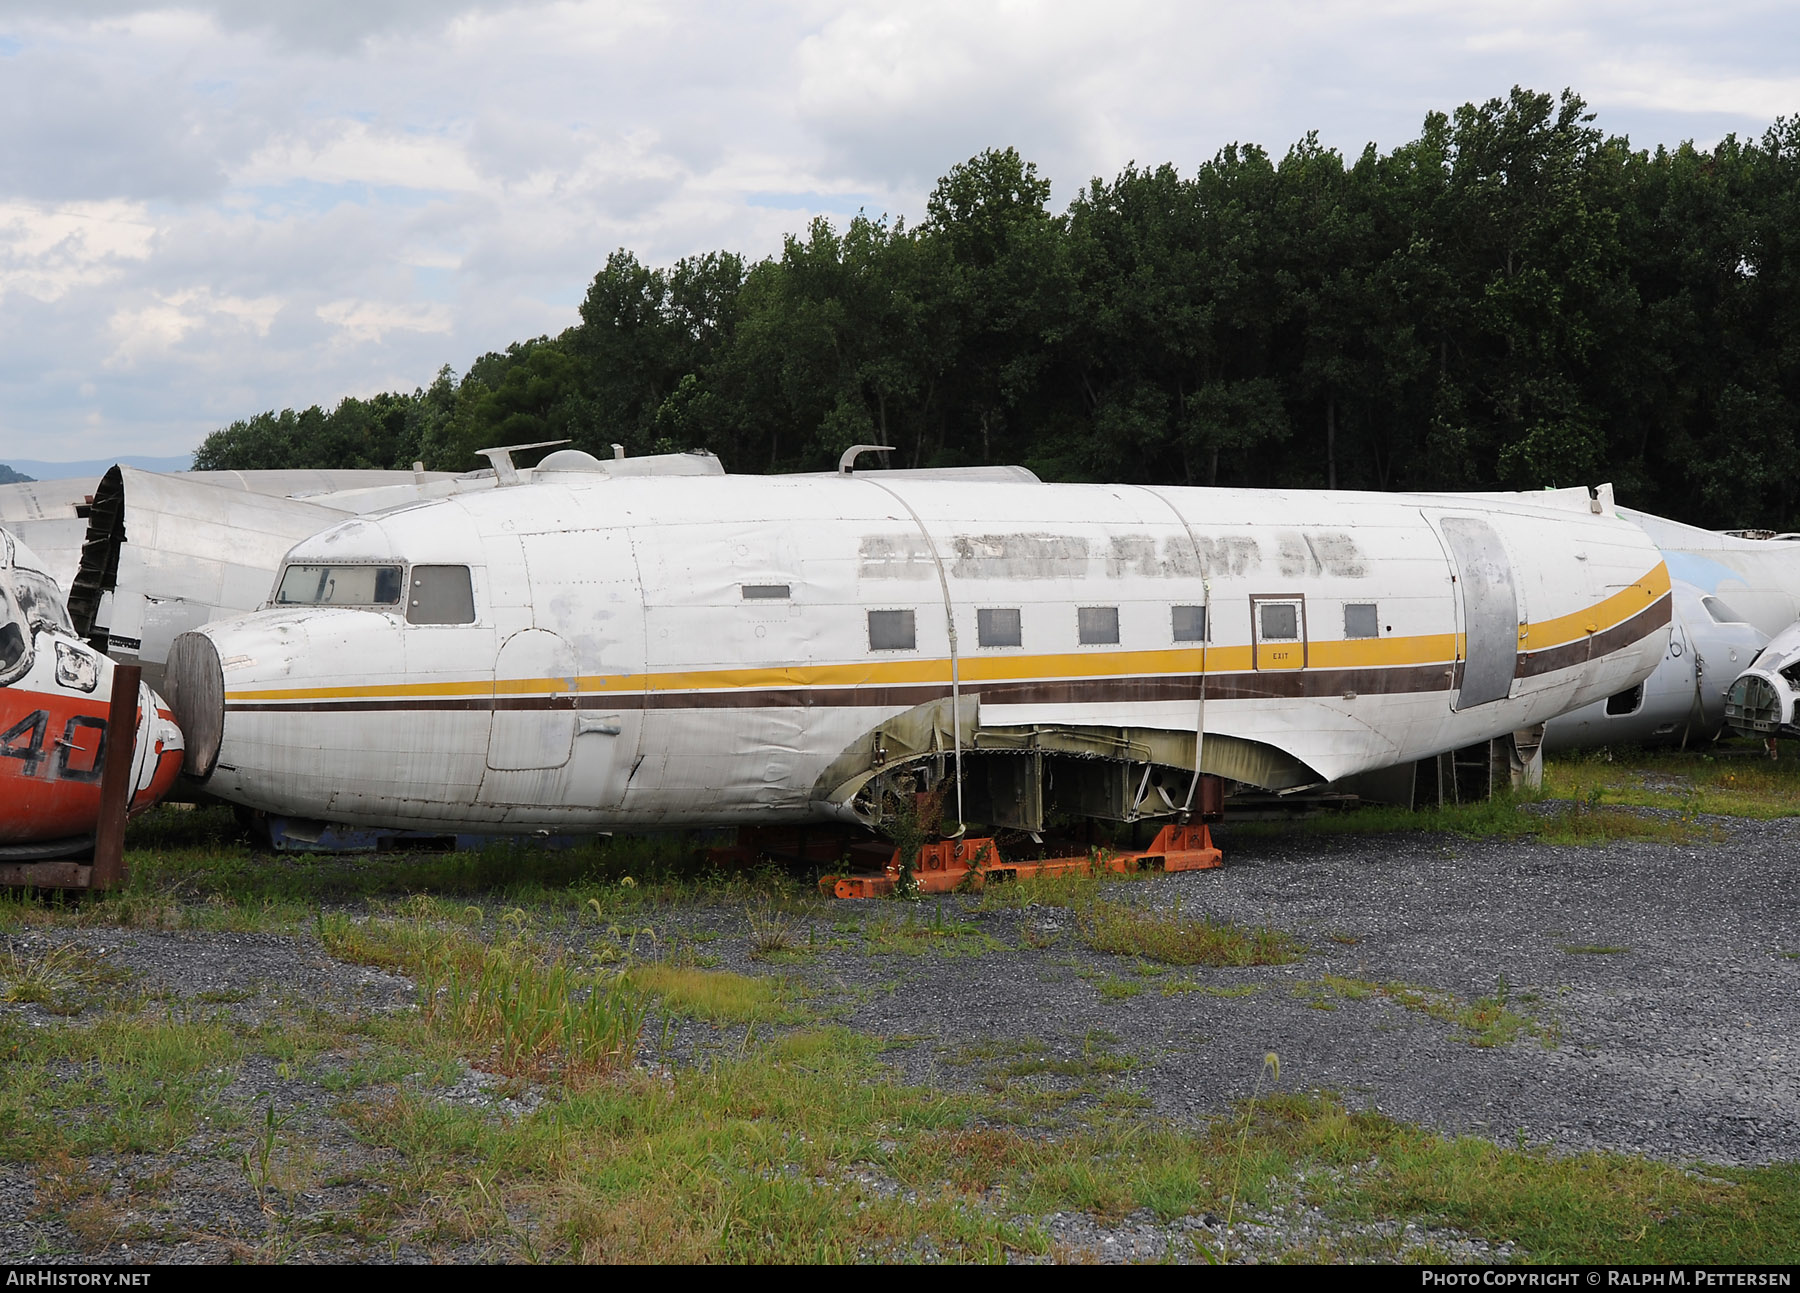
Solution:
M1388 153L1233 144L1048 203L990 149L916 225L821 218L756 263L617 250L562 335L232 423L194 466L466 470L567 438L785 472L887 443L1060 481L1611 479L1697 524L1800 528L1800 117L1634 151L1575 94L1516 88Z

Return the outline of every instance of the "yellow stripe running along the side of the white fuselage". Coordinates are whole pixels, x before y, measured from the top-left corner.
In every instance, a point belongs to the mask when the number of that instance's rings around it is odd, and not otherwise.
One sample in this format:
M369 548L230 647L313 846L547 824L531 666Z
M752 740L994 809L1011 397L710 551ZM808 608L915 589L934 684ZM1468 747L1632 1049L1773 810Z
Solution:
M1669 592L1669 569L1656 569L1629 587L1586 610L1519 627L1519 650L1546 650L1624 623L1656 598ZM1307 645L1309 668L1391 668L1435 665L1460 659L1462 634L1418 634L1413 637L1364 637L1350 641L1312 641ZM961 661L965 686L981 683L1053 681L1093 677L1156 677L1193 674L1199 646L1174 650L1094 650L1058 656L974 656ZM1211 646L1208 674L1247 674L1255 666L1249 646ZM850 665L799 665L758 668L713 668L670 674L594 674L574 679L526 677L499 683L457 679L450 683L378 683L369 686L308 686L257 692L229 692L232 701L355 701L405 697L486 697L486 695L608 695L639 692L749 692L796 686L920 686L949 684L949 659L866 659Z

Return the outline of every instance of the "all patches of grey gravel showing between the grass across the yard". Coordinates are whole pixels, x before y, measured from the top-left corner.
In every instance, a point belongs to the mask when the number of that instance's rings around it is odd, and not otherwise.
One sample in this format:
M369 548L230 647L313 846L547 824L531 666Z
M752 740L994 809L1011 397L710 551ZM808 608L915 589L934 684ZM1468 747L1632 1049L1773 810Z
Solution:
M1226 828L1222 870L1107 890L1120 902L1269 924L1305 942L1303 960L1260 969L1157 972L1087 951L1066 909L983 911L977 899L958 895L920 904L803 904L778 918L797 945L819 951L779 956L779 963L751 954L751 917L742 906L659 909L646 922L664 947L684 944L722 967L788 976L815 1010L900 1039L886 1057L911 1081L967 1086L986 1071L970 1052L1042 1046L1046 1057L1075 1057L1098 1037L1102 1048L1134 1061L1116 1086L1139 1093L1154 1115L1193 1122L1249 1095L1264 1055L1274 1052L1282 1090L1332 1090L1352 1106L1444 1133L1681 1163L1793 1160L1800 1156L1793 1064L1800 1044L1800 958L1793 956L1800 953L1793 906L1800 821L1717 825L1726 834L1721 845L1604 848L1418 834L1233 837ZM979 933L943 940L965 954L871 954L869 929L905 920L961 922ZM310 933L34 927L9 942L27 953L79 942L130 971L135 987L214 1003L247 1026L297 1001L389 1012L416 999L407 980L338 963ZM1321 990L1327 974L1402 981L1462 999L1492 996L1503 981L1512 1008L1537 1030L1505 1046L1474 1046L1456 1025L1379 992ZM1141 989L1129 994L1123 985ZM70 1023L40 1007L0 1010L23 1014L34 1026ZM688 1023L664 1037L661 1023L652 1023L643 1062L680 1066L738 1044L742 1030ZM272 1099L293 1118L286 1126L333 1167L320 1180L340 1183L320 1187L317 1199L304 1199L308 1208L355 1208L355 1192L373 1180L358 1171L371 1151L333 1113L340 1097L266 1061L245 1062L230 1095L247 1106ZM529 1109L538 1099L504 1093L473 1070L441 1095L491 1106L497 1115ZM45 1207L41 1171L0 1165L0 1261L281 1257L266 1246L266 1214L245 1189L236 1151L214 1140L202 1135L167 1160L90 1162L92 1176L113 1178L110 1198L121 1214L142 1214L167 1235L104 1253ZM1161 1225L1134 1216L1100 1225L1073 1214L1039 1225L1058 1257L1098 1261L1192 1257L1195 1239L1217 1248L1222 1228L1217 1217ZM1229 1239L1235 1252L1255 1257L1303 1243L1318 1225L1300 1205L1273 1207L1240 1217ZM1512 1255L1505 1246L1399 1223L1366 1230L1377 1257ZM324 1244L301 1255L446 1253L396 1243L382 1252Z

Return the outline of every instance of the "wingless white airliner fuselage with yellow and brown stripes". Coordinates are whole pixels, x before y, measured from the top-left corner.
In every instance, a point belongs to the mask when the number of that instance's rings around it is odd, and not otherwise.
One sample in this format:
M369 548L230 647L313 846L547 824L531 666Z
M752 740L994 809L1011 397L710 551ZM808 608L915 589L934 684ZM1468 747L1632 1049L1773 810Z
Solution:
M567 472L301 542L166 686L227 800L574 832L842 818L846 751L952 697L965 747L1199 729L1327 782L1634 686L1669 619L1609 492Z

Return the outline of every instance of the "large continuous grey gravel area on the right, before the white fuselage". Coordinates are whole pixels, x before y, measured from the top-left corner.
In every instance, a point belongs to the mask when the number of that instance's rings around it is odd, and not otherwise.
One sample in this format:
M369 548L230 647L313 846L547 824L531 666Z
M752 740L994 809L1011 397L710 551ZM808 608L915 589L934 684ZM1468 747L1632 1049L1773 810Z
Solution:
M1274 926L1300 935L1307 956L1145 978L1125 999L1096 990L1094 976L1129 978L1132 962L1082 947L1069 913L983 913L963 897L927 899L918 918L943 904L1001 951L952 960L828 949L785 972L851 1003L855 1028L922 1037L889 1052L916 1081L956 1081L945 1055L959 1044L1033 1037L1076 1055L1098 1030L1139 1061L1132 1084L1172 1118L1249 1095L1274 1052L1283 1090L1334 1090L1451 1135L1674 1162L1791 1160L1800 1154L1800 958L1784 953L1800 953L1800 821L1710 821L1726 843L1233 839L1224 830L1224 868L1121 884L1109 897ZM695 911L670 924L724 931L707 949L758 972L742 913ZM832 933L814 926L819 938ZM796 922L801 942L806 927ZM1053 942L1021 951L1028 933ZM1462 999L1492 996L1505 980L1512 1008L1546 1035L1472 1046L1456 1026L1379 994L1327 996L1334 1008L1321 1008L1309 985L1323 974ZM1183 980L1201 990L1165 990ZM1255 990L1204 990L1242 987Z

